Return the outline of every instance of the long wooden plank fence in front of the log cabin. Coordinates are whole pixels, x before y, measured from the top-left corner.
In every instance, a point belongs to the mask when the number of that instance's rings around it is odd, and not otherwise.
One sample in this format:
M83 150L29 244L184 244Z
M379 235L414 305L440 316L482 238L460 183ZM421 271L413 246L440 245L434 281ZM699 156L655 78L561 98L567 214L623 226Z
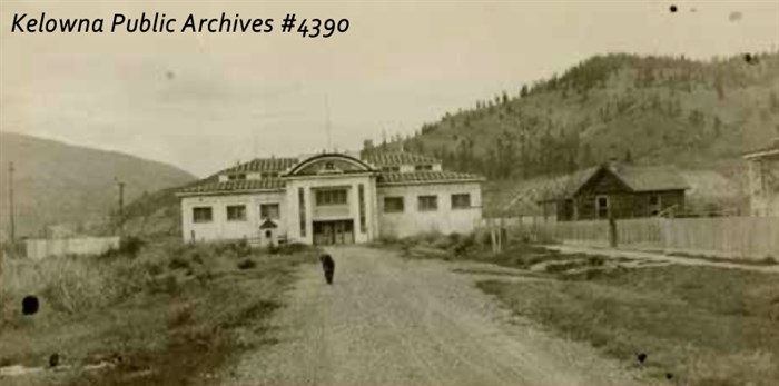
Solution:
M615 221L512 224L512 235L533 241L686 253L730 258L779 258L779 217L642 218Z

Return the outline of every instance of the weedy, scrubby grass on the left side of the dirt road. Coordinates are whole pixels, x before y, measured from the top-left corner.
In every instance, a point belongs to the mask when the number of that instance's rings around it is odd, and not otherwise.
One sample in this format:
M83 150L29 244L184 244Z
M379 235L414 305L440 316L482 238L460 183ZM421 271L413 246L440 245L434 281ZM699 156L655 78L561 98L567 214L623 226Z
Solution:
M0 367L48 367L55 353L60 365L0 383L217 384L233 355L273 344L265 321L293 268L315 257L307 248L157 241L111 256L7 261ZM27 295L40 299L36 315L21 315Z

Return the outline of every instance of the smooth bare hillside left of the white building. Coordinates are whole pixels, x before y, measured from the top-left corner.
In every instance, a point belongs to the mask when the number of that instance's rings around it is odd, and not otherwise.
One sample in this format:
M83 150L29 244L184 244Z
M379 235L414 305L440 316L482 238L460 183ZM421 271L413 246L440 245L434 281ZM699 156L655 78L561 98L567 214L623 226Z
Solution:
M119 152L0 132L0 237L9 232L8 164L13 161L17 236L38 235L46 226L105 230L118 207L118 181L125 202L195 180L170 165Z

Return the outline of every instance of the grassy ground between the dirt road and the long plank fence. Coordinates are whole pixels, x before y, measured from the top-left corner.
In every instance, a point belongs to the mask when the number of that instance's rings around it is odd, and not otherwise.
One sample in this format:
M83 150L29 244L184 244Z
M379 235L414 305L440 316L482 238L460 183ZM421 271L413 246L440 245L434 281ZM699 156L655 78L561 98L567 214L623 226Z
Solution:
M490 263L548 278L509 283L496 276L477 286L517 315L563 338L589 343L628 367L672 385L777 385L778 275L651 266L553 254L533 245L491 254L476 243L455 254L452 246L434 244L395 246L410 258ZM445 246L443 239L437 244Z

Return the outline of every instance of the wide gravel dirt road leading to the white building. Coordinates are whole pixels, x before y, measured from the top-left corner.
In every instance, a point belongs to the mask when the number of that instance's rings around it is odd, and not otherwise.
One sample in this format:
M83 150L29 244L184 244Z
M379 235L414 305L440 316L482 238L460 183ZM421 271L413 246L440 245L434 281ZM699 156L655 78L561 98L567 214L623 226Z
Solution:
M443 261L362 247L331 250L335 283L307 265L273 324L280 340L245 355L227 385L637 385L590 347L517 320Z

